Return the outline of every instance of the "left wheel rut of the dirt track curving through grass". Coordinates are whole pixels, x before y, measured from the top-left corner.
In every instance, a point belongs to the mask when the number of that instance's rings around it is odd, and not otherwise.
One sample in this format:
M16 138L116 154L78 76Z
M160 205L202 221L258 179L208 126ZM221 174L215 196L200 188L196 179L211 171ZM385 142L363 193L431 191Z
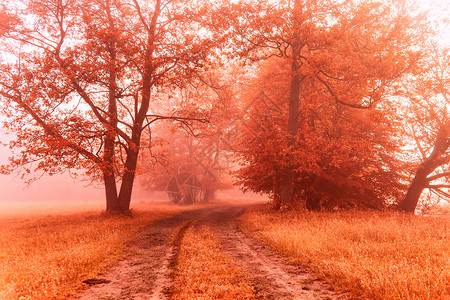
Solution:
M178 252L176 242L182 239L190 222L204 213L204 209L184 212L141 230L125 248L131 255L99 275L109 282L89 287L79 299L169 299Z

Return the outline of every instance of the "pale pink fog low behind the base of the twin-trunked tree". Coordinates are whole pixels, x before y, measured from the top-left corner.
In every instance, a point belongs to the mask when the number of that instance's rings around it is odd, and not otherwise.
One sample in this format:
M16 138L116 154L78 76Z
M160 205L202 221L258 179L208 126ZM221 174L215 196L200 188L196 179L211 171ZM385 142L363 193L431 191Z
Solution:
M136 184L131 208L143 203L167 204L169 201L166 193L146 191ZM86 186L68 174L45 176L30 186L13 175L0 175L0 217L101 212L105 209L101 185Z

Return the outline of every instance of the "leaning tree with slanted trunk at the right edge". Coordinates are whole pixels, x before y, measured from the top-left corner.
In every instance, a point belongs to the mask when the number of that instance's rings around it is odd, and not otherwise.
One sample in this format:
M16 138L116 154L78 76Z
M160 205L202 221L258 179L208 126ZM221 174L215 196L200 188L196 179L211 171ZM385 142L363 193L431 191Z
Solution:
M407 128L420 153L408 192L399 209L414 213L425 189L450 199L450 79L449 49L433 45L422 72L409 78ZM433 51L432 49L438 49Z

